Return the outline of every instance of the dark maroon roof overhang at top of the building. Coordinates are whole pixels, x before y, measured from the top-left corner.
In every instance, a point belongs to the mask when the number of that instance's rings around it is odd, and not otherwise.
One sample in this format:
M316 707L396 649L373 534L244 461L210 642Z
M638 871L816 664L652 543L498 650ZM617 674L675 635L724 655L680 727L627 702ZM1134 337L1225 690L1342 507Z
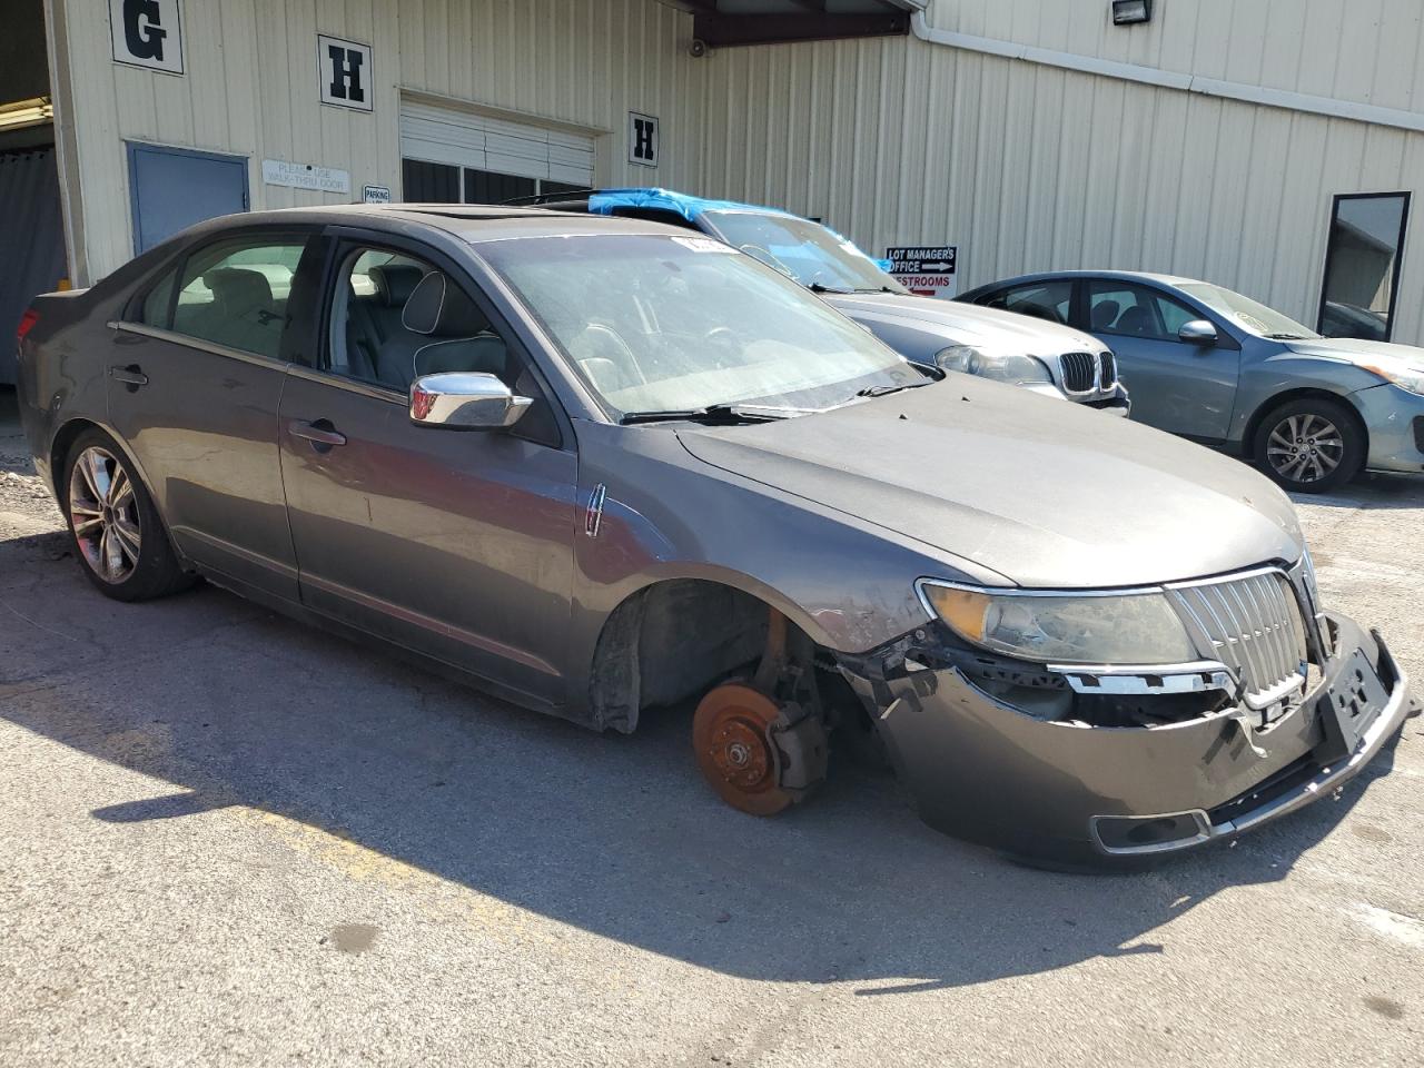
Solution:
M739 44L897 37L928 0L678 0L692 36L712 48Z

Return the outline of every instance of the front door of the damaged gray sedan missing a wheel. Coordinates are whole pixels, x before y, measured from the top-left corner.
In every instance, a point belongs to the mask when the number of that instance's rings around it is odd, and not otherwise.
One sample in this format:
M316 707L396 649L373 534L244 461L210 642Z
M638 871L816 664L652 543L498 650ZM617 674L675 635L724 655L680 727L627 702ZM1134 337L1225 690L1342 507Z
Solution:
M323 367L293 367L281 409L302 600L558 703L577 454L525 355L506 342L513 333L473 288L441 272L437 312L404 313L434 271L372 245L337 252ZM496 373L535 404L510 431L413 424L412 379L454 370Z

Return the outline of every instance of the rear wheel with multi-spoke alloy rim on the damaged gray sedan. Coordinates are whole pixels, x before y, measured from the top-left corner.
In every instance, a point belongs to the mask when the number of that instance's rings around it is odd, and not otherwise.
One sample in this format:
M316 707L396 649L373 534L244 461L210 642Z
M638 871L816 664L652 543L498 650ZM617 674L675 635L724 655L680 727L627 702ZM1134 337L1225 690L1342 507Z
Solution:
M105 597L147 601L192 585L148 487L118 443L98 427L70 446L60 501L74 555Z

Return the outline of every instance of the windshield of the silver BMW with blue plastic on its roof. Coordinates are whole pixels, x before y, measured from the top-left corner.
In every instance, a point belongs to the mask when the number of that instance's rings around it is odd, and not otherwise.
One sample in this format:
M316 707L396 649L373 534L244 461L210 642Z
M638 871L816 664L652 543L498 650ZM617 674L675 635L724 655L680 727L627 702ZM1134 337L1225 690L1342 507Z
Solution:
M728 245L770 263L803 286L910 292L864 252L819 222L752 211L706 211L702 221Z

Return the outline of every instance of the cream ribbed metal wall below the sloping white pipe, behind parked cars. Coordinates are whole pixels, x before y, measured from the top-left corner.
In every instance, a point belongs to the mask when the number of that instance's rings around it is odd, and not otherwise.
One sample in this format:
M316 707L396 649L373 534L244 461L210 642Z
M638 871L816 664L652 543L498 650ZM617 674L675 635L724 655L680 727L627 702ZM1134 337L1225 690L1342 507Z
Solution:
M984 4L993 24L968 28L1008 33L1054 7ZM1084 36L1061 16L1055 30ZM917 40L701 63L711 114L692 191L823 216L876 255L956 242L961 292L1027 271L1163 271L1314 325L1333 195L1413 191L1396 339L1424 343L1424 135ZM769 114L745 121L756 93Z

